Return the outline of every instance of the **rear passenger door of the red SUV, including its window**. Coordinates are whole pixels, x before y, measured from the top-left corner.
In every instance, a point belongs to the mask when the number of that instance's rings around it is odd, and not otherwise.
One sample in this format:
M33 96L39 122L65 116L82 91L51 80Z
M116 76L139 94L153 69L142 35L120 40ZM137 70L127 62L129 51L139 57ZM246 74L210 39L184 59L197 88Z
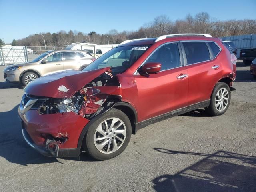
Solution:
M188 70L188 106L206 102L222 76L222 66L216 59L220 48L215 42L206 41L184 41L181 44Z

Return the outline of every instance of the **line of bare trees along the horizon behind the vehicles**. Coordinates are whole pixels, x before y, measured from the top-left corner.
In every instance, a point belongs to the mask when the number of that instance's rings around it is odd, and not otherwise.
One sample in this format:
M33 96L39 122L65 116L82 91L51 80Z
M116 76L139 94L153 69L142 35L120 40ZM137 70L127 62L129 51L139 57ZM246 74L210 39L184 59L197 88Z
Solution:
M235 36L241 34L253 34L256 32L256 20L226 20L218 21L209 16L207 12L200 12L194 17L187 14L184 19L172 22L168 16L160 15L135 31L118 32L110 30L107 35L110 44L120 44L127 39L152 38L164 34L173 33L209 33L215 37ZM147 33L147 35L146 35ZM96 44L107 44L107 38L95 31L83 33L78 31L66 32L61 30L57 33L41 33L45 37L47 46L66 46L74 42L90 41ZM42 36L29 35L26 38L16 40L17 45L44 46Z

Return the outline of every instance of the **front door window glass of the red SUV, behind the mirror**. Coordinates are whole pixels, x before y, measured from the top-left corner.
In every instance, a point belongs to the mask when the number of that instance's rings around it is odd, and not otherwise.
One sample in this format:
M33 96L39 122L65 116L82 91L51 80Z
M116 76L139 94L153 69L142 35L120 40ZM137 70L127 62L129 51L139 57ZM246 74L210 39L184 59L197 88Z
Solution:
M145 63L160 63L161 71L180 66L180 52L177 43L164 45L154 52Z

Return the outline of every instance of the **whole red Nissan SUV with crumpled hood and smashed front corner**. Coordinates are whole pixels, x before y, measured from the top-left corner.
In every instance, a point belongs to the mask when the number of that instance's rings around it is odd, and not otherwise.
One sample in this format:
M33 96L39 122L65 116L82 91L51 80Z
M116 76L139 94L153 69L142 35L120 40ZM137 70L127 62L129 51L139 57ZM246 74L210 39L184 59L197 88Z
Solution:
M26 88L18 113L22 134L46 156L97 160L118 156L131 134L197 108L226 112L236 56L207 34L128 40L83 71L38 78Z

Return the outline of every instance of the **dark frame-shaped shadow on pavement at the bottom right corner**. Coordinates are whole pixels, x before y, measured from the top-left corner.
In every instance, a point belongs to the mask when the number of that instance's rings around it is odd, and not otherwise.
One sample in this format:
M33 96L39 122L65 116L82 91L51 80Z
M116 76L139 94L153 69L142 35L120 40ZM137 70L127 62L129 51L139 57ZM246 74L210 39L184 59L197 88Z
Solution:
M202 156L202 160L171 175L165 174L152 180L157 192L240 192L256 191L256 157L218 151L214 154L172 151L154 148L182 158ZM168 165L167 165L168 166Z

